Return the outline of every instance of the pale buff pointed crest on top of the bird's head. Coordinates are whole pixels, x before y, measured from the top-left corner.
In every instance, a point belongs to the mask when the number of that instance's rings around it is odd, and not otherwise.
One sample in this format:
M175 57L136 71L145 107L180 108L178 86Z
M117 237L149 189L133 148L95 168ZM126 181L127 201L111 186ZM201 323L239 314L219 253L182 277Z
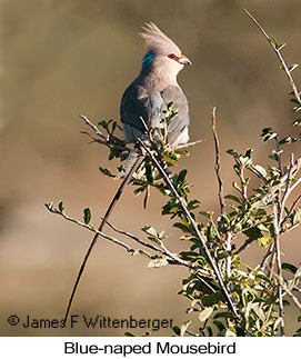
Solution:
M144 39L148 51L163 54L181 54L181 50L178 48L178 46L153 22L147 22L142 29L144 32L140 33L140 36Z

